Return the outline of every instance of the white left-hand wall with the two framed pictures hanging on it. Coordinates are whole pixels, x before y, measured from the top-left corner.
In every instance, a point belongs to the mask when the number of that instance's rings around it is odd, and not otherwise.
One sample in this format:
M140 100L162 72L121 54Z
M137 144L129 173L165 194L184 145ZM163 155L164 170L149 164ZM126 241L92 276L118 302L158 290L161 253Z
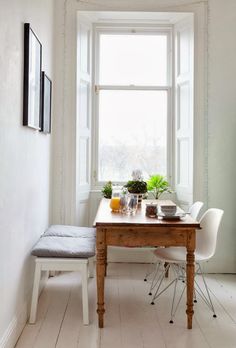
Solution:
M53 66L53 0L0 0L0 347L10 347L26 321L32 245L48 226L51 136L22 126L24 22Z

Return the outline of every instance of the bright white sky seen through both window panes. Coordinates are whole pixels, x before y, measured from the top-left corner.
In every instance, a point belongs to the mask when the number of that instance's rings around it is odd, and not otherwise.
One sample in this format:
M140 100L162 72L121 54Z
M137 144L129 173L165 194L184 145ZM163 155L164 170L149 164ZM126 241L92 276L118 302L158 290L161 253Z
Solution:
M167 37L101 35L98 84L166 86ZM152 172L166 172L167 91L100 90L98 118L101 180L130 175L138 157L130 151L137 146L140 163Z

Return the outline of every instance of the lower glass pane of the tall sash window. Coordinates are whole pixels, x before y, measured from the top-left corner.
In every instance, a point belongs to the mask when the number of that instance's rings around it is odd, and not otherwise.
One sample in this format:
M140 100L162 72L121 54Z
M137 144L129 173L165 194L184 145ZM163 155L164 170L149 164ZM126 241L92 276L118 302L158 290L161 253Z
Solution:
M98 180L167 174L167 92L99 92Z

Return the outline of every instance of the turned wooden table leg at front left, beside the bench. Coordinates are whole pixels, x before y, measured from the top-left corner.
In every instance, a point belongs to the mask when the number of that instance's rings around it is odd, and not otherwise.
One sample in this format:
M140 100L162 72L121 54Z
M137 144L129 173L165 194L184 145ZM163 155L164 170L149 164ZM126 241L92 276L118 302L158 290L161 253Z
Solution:
M104 308L104 277L105 277L105 254L106 254L106 233L97 228L97 313L98 326L103 328Z

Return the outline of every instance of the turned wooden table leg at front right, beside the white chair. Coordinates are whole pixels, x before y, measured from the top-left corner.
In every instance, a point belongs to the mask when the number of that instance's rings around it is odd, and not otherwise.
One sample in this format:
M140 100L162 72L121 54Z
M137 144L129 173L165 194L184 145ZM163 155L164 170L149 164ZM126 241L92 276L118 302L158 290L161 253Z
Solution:
M188 320L188 329L192 329L192 318L194 314L193 310L193 291L194 291L194 269L195 269L195 231L191 234L189 238L189 243L187 246L187 320Z

